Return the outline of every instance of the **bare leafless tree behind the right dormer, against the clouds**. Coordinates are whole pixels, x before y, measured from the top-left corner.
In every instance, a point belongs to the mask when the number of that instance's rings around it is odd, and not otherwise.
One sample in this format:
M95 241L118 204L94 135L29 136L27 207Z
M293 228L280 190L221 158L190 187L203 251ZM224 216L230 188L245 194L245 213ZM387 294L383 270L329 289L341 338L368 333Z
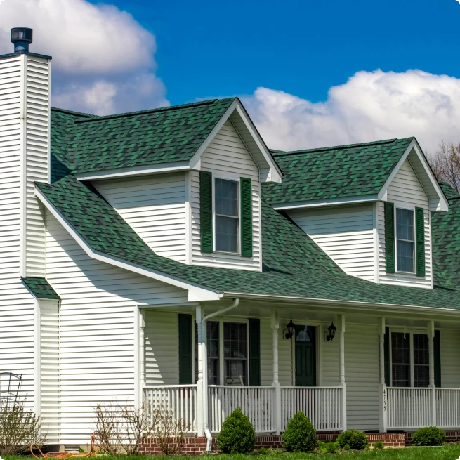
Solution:
M447 182L460 192L460 143L442 141L435 154L428 154L427 159L438 182Z

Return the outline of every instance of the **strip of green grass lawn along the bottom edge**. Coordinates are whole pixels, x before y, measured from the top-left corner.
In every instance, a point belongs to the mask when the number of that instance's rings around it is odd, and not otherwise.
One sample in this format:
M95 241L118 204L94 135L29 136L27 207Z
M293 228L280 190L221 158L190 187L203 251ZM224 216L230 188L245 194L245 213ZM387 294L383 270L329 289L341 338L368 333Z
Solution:
M460 445L444 447L407 447L405 449L385 449L383 451L369 450L364 452L343 452L341 454L270 454L270 455L212 455L212 460L459 460ZM1 456L1 460L30 460L31 456ZM98 456L100 460L184 460L186 457L164 456ZM196 458L196 457L189 457Z

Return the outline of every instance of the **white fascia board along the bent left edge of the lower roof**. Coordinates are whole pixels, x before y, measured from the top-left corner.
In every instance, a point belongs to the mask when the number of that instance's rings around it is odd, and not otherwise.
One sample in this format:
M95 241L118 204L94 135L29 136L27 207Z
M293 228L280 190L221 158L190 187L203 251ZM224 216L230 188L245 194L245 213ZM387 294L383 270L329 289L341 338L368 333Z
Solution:
M213 289L205 289L198 286L197 284L192 284L180 278L172 277L170 275L165 275L163 272L158 272L157 270L152 270L149 268L142 267L135 263L125 261L113 256L107 256L107 254L100 253L91 248L83 238L74 230L72 225L67 222L67 220L61 215L58 209L46 198L46 196L39 190L35 188L35 195L37 198L46 206L48 211L50 211L53 216L58 220L58 222L63 225L65 230L70 233L74 240L79 244L81 249L83 249L86 254L98 261L109 263L110 265L115 265L116 267L123 268L124 270L129 270L131 272L138 273L138 275L143 275L149 278L152 278L157 281L164 282L166 284L171 284L173 286L179 287L181 289L186 289L188 291L188 300L190 301L210 301L210 300L219 300L221 295L218 291Z

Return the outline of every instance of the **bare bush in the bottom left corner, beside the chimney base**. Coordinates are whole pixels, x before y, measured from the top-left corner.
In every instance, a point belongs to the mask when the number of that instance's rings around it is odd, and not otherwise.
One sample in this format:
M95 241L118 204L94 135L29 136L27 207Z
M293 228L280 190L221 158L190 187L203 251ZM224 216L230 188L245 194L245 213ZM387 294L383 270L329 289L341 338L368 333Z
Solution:
M0 454L15 455L29 450L34 444L41 447L46 435L41 433L41 420L34 412L24 407L24 402L15 402L0 409Z

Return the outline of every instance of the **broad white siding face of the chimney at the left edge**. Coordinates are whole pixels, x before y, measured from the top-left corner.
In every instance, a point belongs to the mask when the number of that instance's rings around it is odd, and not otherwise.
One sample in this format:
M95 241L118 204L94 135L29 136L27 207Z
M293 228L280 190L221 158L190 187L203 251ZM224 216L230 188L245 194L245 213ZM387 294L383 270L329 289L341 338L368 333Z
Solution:
M34 299L20 282L20 56L0 59L0 372L34 405Z

